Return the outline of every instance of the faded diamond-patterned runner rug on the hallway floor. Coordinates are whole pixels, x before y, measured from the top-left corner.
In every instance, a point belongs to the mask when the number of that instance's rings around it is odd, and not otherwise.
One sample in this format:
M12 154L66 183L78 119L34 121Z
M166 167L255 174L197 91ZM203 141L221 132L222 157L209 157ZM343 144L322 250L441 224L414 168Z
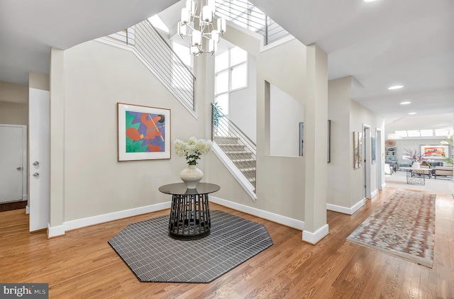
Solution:
M397 190L347 240L432 268L435 198Z

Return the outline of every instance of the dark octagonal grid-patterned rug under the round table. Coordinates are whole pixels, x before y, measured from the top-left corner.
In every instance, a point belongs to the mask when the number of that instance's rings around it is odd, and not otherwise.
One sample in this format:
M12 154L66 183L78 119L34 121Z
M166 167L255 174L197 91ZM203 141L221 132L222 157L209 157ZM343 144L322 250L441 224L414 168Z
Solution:
M169 216L132 223L109 240L139 281L209 283L272 245L264 225L211 211L211 233L172 239Z

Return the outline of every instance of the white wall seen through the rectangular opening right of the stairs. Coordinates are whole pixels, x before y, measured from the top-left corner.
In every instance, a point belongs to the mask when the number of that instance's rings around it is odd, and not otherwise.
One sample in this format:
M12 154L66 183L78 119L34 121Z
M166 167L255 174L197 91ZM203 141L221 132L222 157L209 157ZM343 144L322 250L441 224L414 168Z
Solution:
M270 84L270 154L299 157L299 123L304 122L304 106Z

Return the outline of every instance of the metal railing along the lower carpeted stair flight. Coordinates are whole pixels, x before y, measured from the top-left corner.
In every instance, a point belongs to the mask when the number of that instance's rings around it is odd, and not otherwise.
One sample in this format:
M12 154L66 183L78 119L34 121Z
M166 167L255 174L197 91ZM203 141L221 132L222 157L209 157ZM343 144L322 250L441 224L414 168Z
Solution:
M238 152L238 145L244 147L244 152L250 154L250 158L245 158L243 155L231 155L231 160L240 171L250 171L252 176L247 176L250 183L255 186L255 162L257 159L257 147L255 142L250 140L238 126L233 123L226 115L224 115L218 107L211 103L211 140L223 143L224 152L235 153ZM232 143L231 140L237 140L237 143Z

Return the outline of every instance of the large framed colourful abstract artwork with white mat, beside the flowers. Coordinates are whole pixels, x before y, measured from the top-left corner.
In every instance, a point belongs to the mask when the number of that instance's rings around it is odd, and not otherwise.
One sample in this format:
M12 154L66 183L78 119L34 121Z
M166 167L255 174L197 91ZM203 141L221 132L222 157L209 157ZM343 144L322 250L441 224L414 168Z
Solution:
M118 162L170 159L170 109L117 103Z

